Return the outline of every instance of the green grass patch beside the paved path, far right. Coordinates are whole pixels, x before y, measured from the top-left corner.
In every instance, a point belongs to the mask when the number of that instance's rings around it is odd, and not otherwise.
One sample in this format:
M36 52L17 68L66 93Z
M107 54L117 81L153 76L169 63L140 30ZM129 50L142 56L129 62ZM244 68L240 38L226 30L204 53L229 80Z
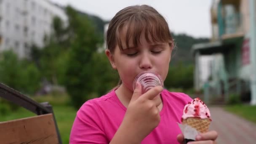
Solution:
M224 109L256 123L256 106L236 104L228 105Z

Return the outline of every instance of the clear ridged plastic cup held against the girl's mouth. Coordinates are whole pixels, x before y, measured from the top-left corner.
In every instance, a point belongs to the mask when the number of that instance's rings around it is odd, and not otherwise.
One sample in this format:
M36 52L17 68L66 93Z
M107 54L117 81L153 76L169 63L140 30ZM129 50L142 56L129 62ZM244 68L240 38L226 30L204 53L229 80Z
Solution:
M163 79L156 72L141 72L133 80L133 91L136 88L136 82L141 84L141 93L146 93L151 88L154 88L157 85L163 87Z

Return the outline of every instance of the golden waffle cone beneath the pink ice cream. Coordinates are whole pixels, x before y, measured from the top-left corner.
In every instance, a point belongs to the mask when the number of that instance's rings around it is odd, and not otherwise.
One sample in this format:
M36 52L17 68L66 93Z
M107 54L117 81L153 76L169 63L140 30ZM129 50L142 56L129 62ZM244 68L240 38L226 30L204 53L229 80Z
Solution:
M211 119L205 118L201 119L200 117L188 117L182 121L183 125L189 125L192 128L195 128L200 133L205 133L208 131L211 123Z

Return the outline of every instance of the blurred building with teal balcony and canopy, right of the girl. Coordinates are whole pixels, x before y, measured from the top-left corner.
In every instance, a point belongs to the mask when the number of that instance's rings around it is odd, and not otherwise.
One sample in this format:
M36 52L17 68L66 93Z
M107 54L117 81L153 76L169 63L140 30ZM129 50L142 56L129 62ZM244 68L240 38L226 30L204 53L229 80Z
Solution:
M223 96L227 100L230 93L236 93L244 99L251 99L251 78L252 73L255 73L251 70L254 67L251 53L255 46L251 45L250 29L255 26L256 21L251 18L256 11L250 13L250 10L256 5L250 3L250 0L213 0L210 10L211 42L192 46L195 57L195 89L200 89L199 58L211 55L214 58L211 80L207 85L212 90L212 96Z

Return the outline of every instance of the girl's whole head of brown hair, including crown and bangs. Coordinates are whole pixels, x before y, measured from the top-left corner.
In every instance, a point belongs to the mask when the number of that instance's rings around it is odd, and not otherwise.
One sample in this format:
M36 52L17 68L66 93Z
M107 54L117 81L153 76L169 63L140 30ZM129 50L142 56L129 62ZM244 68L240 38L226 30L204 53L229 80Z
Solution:
M121 33L126 35L123 43ZM142 34L148 43L168 42L173 47L173 38L164 17L149 5L133 5L119 11L110 21L106 37L107 49L113 54L117 45L121 51L124 46L138 47Z

